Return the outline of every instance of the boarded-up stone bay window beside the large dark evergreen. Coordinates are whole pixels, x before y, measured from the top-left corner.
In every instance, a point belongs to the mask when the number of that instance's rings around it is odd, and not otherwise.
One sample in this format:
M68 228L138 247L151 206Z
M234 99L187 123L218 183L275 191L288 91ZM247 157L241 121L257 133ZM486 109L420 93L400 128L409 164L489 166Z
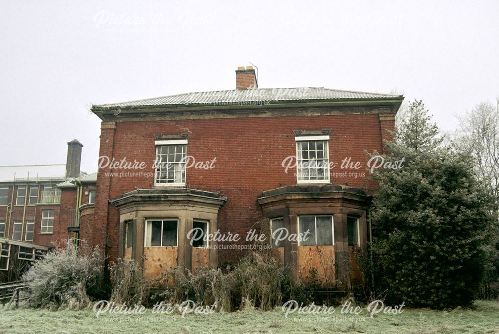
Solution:
M297 238L272 239L272 254L289 268L294 280L307 282L312 272L326 287L346 288L358 274L355 248L367 240L370 197L341 185L295 185L263 192L257 199L270 219L273 236L287 229Z

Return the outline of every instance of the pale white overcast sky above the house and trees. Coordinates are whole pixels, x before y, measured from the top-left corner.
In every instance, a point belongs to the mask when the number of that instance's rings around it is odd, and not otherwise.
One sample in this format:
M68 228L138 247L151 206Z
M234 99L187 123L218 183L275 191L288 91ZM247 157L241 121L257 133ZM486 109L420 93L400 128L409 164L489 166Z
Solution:
M235 88L327 87L423 99L445 131L499 95L499 0L0 1L0 165L97 170L92 103Z

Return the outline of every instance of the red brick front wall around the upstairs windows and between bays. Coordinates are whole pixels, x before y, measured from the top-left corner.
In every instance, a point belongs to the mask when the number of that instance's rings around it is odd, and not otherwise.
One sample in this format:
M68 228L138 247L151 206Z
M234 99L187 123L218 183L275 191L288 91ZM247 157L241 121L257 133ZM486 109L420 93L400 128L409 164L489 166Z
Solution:
M153 135L189 132L187 154L193 156L196 162L211 161L213 158L216 162L211 170L188 169L187 186L220 191L222 196L227 196L228 200L220 210L219 228L222 233L230 231L244 236L253 223L262 218L256 202L261 192L296 184L296 168L285 173L281 166L284 158L296 155L293 129L331 129L330 161L337 163L331 172L364 172L367 167L364 150L381 152L382 149L378 115L352 114L119 122L116 129L102 130L100 155L114 157L118 161L124 157L128 162L144 161L147 167L138 171L150 173L155 159ZM340 169L345 157L351 157L352 162L361 162L363 167L358 170ZM104 244L104 224L107 220L107 253L114 258L118 249L119 213L107 200L135 188L151 188L154 177L106 177L106 172L109 168L99 170L92 242ZM331 176L331 183L353 187L366 185L361 177L348 175ZM219 263L234 261L238 256L237 252L220 250Z

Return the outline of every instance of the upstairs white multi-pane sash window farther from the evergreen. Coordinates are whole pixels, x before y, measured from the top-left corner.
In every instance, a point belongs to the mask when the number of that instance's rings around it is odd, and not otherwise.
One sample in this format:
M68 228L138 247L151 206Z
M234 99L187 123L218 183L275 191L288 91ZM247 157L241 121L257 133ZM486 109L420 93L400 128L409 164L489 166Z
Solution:
M155 185L185 185L187 139L157 140Z

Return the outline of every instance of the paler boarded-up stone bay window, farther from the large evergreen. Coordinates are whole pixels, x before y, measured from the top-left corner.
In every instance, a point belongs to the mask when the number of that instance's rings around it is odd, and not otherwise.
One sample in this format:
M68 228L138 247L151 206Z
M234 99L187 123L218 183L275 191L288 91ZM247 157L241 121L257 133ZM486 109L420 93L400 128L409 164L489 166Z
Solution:
M137 189L111 200L120 213L120 256L143 261L149 279L177 265L216 268L217 242L208 247L203 236L217 230L226 200L215 192L177 187Z

